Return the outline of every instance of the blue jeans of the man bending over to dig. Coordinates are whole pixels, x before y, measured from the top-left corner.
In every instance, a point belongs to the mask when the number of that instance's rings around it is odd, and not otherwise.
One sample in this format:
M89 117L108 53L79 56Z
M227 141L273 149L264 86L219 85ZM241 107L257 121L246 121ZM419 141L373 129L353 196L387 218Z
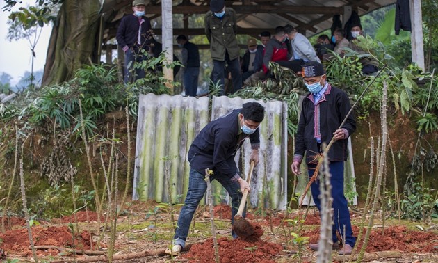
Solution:
M190 168L190 177L188 179L188 191L186 200L184 201L184 206L179 214L177 228L175 230L174 244L181 245L183 248L186 245L186 239L188 235L188 230L190 228L190 223L193 218L193 214L197 209L200 201L206 192L206 182L204 181L205 175L198 173L197 170ZM212 180L218 180L225 190L227 190L229 196L232 200L232 223L234 222L234 215L237 214L238 206L240 205L242 199L242 193L239 191L241 189L238 182L232 181L231 178L220 175L217 171L215 175L210 177L210 182ZM243 209L243 217L246 215L246 207ZM236 233L232 231L232 236L237 238Z

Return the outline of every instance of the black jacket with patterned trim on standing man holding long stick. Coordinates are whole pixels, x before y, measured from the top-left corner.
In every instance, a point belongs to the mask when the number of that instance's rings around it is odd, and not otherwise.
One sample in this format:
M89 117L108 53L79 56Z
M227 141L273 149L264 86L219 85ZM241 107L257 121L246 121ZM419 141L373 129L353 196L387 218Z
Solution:
M330 84L316 105L314 104L314 96L309 93L302 101L298 131L295 135L294 156L300 155L303 157L304 154L307 153L306 164L311 163L315 155L321 152L315 138L315 122L317 122L319 126L321 143L327 143L328 145L332 140L334 131L339 128L350 109L350 100L348 99L347 93L339 88L330 86ZM315 118L319 119L319 122L318 120L314 120ZM355 131L356 120L352 114L350 114L342 128L347 129L350 136ZM316 127L316 129L318 129L318 127ZM333 143L332 148L330 148L328 152L330 161L347 160L347 141L346 138Z

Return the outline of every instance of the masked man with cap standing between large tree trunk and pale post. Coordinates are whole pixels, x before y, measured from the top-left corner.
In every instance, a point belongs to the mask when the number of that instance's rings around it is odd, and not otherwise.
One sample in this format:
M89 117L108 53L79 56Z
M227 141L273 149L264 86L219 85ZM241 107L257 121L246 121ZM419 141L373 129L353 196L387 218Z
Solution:
M151 22L145 17L145 9L145 0L134 0L133 14L122 18L115 35L117 44L124 51L124 83L145 77L143 69L134 69L135 63L141 63L146 59L153 35Z

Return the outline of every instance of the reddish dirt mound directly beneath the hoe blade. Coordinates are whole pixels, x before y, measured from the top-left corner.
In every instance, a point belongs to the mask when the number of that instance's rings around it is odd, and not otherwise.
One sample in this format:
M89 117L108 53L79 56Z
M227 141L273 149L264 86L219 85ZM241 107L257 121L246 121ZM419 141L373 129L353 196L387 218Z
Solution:
M260 225L252 223L254 234L250 237L229 240L227 237L218 239L219 257L222 263L270 263L275 262L273 257L282 252L280 244L263 241L263 229ZM209 263L215 262L213 239L207 239L202 244L194 244L188 253L181 255L190 262Z

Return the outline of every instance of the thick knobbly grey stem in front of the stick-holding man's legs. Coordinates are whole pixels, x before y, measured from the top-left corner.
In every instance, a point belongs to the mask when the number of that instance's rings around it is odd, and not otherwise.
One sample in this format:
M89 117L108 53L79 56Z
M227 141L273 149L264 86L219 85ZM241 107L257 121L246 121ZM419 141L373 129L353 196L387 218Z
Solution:
M323 145L325 147L325 145ZM327 153L323 155L323 170L320 170L319 191L321 195L321 227L318 241L316 262L332 262L332 183ZM344 231L345 232L345 231Z

